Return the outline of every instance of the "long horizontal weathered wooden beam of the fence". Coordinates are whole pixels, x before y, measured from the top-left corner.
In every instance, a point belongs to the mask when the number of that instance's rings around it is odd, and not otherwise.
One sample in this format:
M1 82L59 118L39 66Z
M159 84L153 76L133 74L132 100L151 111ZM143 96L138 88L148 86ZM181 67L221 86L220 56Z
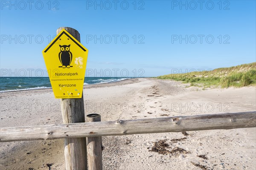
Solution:
M256 111L154 119L4 127L0 142L256 127Z

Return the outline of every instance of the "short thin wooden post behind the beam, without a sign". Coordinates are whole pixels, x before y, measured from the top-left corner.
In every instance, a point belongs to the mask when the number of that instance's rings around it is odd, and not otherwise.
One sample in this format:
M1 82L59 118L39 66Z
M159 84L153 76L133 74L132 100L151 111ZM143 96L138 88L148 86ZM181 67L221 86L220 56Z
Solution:
M87 122L100 122L99 114L86 116ZM87 159L89 170L102 170L102 137L87 137Z

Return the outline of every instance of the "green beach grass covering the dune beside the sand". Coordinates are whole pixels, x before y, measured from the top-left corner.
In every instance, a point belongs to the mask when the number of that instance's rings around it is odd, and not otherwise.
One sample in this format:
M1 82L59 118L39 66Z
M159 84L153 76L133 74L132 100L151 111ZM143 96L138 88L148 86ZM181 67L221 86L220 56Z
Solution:
M171 79L190 83L190 86L210 87L244 87L256 85L256 62L228 68L216 68L212 71L194 71L183 74L167 74L158 79Z

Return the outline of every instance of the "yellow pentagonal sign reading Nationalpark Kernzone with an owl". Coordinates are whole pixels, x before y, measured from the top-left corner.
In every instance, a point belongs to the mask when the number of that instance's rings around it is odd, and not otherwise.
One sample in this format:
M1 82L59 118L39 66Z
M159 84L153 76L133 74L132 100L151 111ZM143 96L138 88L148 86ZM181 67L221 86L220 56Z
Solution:
M81 98L88 50L63 29L42 53L55 98Z

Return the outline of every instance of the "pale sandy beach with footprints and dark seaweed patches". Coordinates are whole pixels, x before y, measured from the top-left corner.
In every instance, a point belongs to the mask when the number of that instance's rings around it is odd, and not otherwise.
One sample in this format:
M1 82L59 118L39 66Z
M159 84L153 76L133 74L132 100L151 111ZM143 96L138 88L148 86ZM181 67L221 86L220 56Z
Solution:
M256 88L153 78L84 86L85 115L102 121L256 110ZM0 93L0 127L61 124L52 89ZM255 170L256 128L103 136L104 170ZM155 152L165 146L165 152ZM0 143L1 170L64 170L64 139Z

